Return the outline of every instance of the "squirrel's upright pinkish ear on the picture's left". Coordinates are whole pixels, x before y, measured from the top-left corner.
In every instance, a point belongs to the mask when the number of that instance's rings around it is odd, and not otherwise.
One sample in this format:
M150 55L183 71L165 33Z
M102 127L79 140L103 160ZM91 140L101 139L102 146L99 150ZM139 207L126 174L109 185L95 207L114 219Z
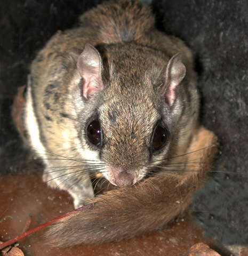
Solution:
M94 46L85 45L83 52L78 57L77 69L84 80L83 95L86 99L90 99L92 95L103 89L102 60L100 53Z

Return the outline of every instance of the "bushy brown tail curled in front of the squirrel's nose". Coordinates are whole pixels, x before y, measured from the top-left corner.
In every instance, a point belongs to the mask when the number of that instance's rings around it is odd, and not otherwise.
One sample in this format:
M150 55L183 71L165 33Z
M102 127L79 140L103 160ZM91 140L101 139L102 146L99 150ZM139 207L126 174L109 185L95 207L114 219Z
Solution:
M214 134L202 127L189 152L215 144ZM188 162L190 157L199 157L204 166L198 166L187 178L155 175L136 188L112 190L95 198L92 210L75 212L50 227L47 241L52 246L105 243L163 228L188 207L207 177L215 151L213 146L189 154Z

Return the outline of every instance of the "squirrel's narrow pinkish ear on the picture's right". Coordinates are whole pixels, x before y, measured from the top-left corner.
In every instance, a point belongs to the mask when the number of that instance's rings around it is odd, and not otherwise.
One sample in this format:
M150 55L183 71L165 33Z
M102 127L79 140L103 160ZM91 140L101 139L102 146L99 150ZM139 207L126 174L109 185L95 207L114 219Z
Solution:
M159 77L164 77L161 93L164 95L165 102L170 106L173 105L177 98L175 89L177 88L177 85L181 83L185 75L186 67L181 61L181 55L177 53L173 55L167 66L161 71L161 75L159 75Z

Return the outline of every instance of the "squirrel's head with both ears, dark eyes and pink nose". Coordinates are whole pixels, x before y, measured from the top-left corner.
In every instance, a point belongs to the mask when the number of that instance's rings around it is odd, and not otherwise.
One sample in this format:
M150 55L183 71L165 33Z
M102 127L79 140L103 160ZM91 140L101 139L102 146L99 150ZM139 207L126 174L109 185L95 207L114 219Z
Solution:
M175 89L186 68L179 55L168 61L153 50L133 46L130 56L123 58L125 46L119 47L114 49L118 54L111 53L111 46L107 51L108 80L102 77L103 61L93 46L85 46L77 66L85 105L94 106L81 130L82 143L87 142L91 155L98 152L98 161L105 163L102 174L125 187L144 178L149 166L167 155L171 116L181 114Z

